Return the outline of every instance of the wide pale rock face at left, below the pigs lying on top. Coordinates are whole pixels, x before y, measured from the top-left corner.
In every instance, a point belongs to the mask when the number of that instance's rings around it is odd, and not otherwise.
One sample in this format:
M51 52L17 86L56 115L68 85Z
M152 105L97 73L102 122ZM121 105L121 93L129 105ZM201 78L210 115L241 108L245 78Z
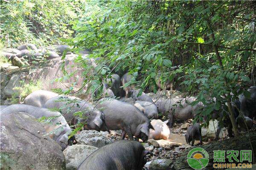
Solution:
M20 80L25 83L40 81L42 90L51 91L52 88L67 89L75 84L74 90L81 88L84 82L82 67L74 62L76 57L66 57L64 60L55 58L43 63L40 66L18 69L12 72L1 73L1 99L10 98L14 94L13 88L20 87ZM74 73L72 77L64 78L61 81L54 81L65 77L62 71L62 64L67 74ZM76 83L75 83L76 82ZM86 91L86 89L84 89Z

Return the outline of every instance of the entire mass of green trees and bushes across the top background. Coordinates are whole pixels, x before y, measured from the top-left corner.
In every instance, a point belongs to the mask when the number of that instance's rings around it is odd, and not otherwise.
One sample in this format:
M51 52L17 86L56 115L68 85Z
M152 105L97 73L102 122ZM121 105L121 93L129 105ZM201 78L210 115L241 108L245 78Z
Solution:
M140 93L156 92L157 79L162 86L170 81L197 96L194 104L206 105L196 119L224 109L236 127L230 102L255 85L253 1L15 2L1 3L1 43L53 44L61 37L76 51L89 49L98 62L95 74L87 74L91 68L81 56L76 61L91 91L114 72L132 74L129 84Z

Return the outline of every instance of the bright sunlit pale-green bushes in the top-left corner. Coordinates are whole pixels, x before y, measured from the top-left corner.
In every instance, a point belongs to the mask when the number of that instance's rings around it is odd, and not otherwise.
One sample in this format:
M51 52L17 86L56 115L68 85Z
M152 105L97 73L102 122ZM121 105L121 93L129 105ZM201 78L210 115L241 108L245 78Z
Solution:
M54 44L72 36L72 23L83 13L84 0L2 0L1 43Z

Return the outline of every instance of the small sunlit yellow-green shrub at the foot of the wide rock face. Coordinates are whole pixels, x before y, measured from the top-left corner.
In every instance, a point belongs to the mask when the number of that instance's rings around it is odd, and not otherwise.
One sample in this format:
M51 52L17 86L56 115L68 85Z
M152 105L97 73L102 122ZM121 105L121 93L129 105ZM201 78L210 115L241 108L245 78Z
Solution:
M28 84L25 84L24 81L20 81L20 86L13 88L15 93L12 94L12 104L18 103L19 100L25 99L26 96L31 94L33 91L41 90L42 85L40 81L37 82L29 82ZM20 97L20 99L19 99Z

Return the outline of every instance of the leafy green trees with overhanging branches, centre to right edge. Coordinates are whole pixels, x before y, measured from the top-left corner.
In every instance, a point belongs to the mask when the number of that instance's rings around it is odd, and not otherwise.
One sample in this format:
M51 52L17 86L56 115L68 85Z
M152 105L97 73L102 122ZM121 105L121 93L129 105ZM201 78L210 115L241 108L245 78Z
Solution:
M68 42L92 51L87 83L129 72L143 91L174 81L207 107L197 119L255 85L256 4L252 1L88 1ZM83 62L82 58L77 59ZM87 66L83 65L85 72ZM107 67L109 66L109 67ZM177 66L177 69L173 69ZM252 82L250 82L250 79ZM98 82L97 82L98 81ZM181 83L181 84L180 84ZM214 100L216 99L216 102ZM229 110L230 111L230 110Z

